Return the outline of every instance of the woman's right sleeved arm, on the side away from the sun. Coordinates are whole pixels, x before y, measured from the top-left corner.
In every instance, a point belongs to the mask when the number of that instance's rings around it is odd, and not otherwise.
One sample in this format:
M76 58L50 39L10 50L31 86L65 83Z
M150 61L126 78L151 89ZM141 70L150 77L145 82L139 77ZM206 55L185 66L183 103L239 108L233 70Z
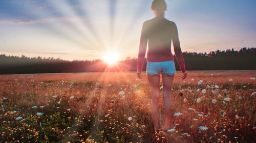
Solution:
M183 74L186 74L186 68L185 68L185 62L184 62L184 59L183 59L183 54L182 54L182 51L181 51L181 48L180 48L180 40L179 40L179 36L178 36L178 30L177 30L177 26L176 24L174 23L174 26L173 26L173 44L174 44L174 52L175 52L175 56L176 56L176 59L178 61L178 64L180 66L180 69L182 71Z

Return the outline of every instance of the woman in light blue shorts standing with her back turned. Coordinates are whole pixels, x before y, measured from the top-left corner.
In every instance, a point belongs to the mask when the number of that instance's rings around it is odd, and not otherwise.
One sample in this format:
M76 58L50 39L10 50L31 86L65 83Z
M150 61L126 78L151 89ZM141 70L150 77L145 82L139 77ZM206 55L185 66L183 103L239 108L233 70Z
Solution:
M170 129L172 118L170 92L176 74L174 58L171 52L171 41L173 40L176 59L185 79L187 72L180 48L177 26L174 22L164 18L166 3L164 0L154 0L151 6L155 18L143 23L140 37L139 54L137 60L137 76L142 78L141 71L144 64L145 52L148 42L146 74L151 88L151 113L154 130L160 130L158 125L158 102L160 73L163 79L163 98L165 124L163 130Z

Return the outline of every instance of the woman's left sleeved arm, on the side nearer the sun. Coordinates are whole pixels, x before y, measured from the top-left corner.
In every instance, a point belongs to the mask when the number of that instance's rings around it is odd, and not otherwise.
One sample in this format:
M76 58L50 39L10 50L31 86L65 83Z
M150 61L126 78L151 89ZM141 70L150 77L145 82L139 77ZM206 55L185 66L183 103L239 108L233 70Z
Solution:
M140 73L142 71L142 67L144 65L144 59L146 54L146 46L147 46L147 34L146 34L146 24L143 23L141 36L140 36L140 45L139 45L139 54L137 59L137 72Z

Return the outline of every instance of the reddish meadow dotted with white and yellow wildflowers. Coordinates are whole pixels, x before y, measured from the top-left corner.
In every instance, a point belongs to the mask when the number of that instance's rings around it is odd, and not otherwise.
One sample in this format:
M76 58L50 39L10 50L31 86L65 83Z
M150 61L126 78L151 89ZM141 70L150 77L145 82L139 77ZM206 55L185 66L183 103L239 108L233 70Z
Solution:
M0 142L255 142L256 71L181 75L173 128L161 133L153 131L144 73L0 75Z

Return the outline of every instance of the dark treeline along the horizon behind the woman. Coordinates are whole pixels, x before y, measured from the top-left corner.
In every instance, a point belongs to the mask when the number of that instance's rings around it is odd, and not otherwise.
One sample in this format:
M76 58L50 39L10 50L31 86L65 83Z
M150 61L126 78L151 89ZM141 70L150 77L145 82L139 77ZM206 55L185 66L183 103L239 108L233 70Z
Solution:
M175 56L174 56L175 57ZM209 53L183 52L187 70L255 70L255 48L241 48L239 51L211 51ZM180 70L175 59L176 70ZM68 72L103 72L103 71L136 71L136 58L126 58L113 65L102 60L65 61L54 58L28 58L25 55L0 55L0 74L23 73L68 73ZM146 61L143 70L146 69Z

